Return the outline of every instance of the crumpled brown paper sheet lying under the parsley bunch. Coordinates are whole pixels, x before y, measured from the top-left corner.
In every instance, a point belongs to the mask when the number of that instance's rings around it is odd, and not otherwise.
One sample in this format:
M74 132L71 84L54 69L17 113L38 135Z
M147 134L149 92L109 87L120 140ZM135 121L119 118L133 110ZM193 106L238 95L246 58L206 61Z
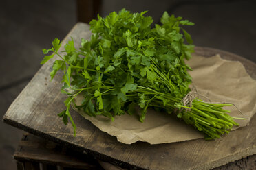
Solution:
M219 55L211 58L193 56L186 62L193 71L193 85L198 93L209 97L211 101L231 102L226 106L233 117L253 117L256 112L256 80L253 80L240 62L223 60ZM201 97L199 97L201 98ZM83 97L77 96L76 104L81 104ZM203 99L206 101L206 99ZM203 134L186 125L182 120L164 112L147 110L144 123L138 121L138 115L129 114L115 117L115 121L98 116L89 117L83 110L77 110L85 119L91 121L103 132L116 136L118 141L126 144L145 141L150 144L173 143L203 138ZM235 120L239 127L246 126L247 120Z

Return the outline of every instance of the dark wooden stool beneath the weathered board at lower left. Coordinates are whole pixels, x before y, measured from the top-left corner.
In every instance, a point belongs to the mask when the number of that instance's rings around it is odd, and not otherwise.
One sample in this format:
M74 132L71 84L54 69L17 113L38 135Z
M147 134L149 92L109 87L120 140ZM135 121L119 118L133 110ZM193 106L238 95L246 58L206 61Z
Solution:
M81 170L121 168L107 162L96 160L74 148L58 145L32 134L23 134L14 153L18 170Z

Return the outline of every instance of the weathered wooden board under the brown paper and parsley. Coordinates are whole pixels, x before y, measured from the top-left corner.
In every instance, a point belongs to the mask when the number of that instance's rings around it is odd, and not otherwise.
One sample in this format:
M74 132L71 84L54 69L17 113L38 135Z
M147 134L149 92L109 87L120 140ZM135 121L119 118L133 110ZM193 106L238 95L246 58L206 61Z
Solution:
M88 25L78 23L63 40L63 44L72 36L76 47L81 38L89 38ZM63 47L61 47L63 50ZM197 47L196 54L213 56L220 53L227 60L238 60L244 64L248 73L256 79L256 64L235 54L216 49ZM65 109L65 95L60 93L61 73L56 79L50 80L52 63L43 65L34 78L10 106L3 121L42 136L58 143L93 154L96 158L114 162L122 167L137 167L141 169L213 169L228 162L256 154L255 134L256 117L250 125L242 127L223 136L216 141L203 139L180 143L149 145L137 142L131 145L119 143L114 136L98 130L92 123L82 119L71 110L77 125L76 137L73 136L72 126L63 125L56 117L58 112ZM255 102L255 101L252 101Z

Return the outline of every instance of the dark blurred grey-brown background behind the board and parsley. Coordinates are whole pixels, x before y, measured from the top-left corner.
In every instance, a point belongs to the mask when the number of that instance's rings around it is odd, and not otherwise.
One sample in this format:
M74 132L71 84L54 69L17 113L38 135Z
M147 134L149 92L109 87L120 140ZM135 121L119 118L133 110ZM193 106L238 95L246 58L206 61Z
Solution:
M41 49L63 39L78 21L74 0L9 0L0 3L0 117L40 68ZM156 23L169 14L193 21L194 44L222 49L256 62L256 1L105 0L100 13L149 10ZM89 8L90 9L90 8ZM87 14L88 7L85 7ZM81 14L81 13L79 13ZM56 119L58 119L56 117ZM54 121L54 120L53 120ZM12 154L23 132L0 122L0 169L16 169Z

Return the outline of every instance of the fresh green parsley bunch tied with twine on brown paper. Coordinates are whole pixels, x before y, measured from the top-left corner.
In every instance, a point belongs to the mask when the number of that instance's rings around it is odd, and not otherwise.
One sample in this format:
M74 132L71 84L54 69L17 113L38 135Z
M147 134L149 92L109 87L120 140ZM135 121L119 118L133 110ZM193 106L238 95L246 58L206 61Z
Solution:
M55 39L52 49L43 50L45 54L53 53L45 56L41 64L55 55L61 58L54 62L50 73L54 78L58 70L64 72L61 93L68 95L67 109L58 116L65 125L70 119L75 134L70 104L82 94L83 103L76 107L89 116L101 114L114 120L116 115L134 114L139 106L140 121L144 121L149 107L168 114L178 109L173 114L204 132L208 139L228 133L238 124L226 114L228 110L222 109L227 104L207 104L199 99L193 100L191 106L182 103L192 82L187 71L191 68L184 60L191 58L194 46L191 36L180 25L193 23L164 12L162 25L151 28L153 19L144 16L145 13L132 14L123 9L105 18L98 16L98 20L89 23L91 39L82 39L80 49L71 40L61 56L61 43Z

